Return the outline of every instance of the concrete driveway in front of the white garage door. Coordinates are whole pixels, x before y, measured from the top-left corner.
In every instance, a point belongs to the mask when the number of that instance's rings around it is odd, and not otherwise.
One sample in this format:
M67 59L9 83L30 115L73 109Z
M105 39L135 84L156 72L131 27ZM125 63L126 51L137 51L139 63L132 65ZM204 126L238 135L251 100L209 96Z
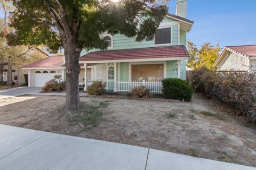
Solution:
M0 99L20 95L33 95L37 94L40 90L40 87L18 87L13 89L0 90Z

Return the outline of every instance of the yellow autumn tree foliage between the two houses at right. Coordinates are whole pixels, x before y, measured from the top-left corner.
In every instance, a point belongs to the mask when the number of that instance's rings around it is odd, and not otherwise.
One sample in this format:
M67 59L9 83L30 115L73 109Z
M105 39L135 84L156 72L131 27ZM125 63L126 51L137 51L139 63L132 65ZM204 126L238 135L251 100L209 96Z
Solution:
M188 52L189 60L187 61L187 66L190 68L200 69L205 67L209 70L215 70L213 67L214 62L217 60L221 49L219 45L215 47L211 43L204 43L201 49L197 49L194 43L188 41Z

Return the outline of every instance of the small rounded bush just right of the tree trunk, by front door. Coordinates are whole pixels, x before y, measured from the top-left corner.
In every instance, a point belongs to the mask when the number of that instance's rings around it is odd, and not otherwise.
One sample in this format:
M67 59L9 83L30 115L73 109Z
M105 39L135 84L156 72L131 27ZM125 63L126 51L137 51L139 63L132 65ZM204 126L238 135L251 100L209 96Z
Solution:
M106 82L94 81L91 86L87 86L86 92L89 95L102 95L107 87Z

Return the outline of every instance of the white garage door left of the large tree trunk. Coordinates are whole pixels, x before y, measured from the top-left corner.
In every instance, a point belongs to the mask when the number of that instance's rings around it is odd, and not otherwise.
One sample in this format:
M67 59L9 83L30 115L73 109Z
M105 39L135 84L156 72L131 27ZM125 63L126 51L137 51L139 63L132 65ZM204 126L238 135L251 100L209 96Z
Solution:
M40 72L37 71L35 73L35 87L43 87L44 84L53 79L54 75L57 75L58 73L49 73L49 72Z

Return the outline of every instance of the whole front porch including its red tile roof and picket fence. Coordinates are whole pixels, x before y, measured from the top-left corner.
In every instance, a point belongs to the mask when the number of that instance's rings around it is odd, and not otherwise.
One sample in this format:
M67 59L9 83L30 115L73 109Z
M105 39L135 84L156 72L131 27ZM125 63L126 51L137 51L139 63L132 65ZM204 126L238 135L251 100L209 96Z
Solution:
M103 81L106 90L114 92L130 92L143 85L162 93L163 79L186 79L188 56L185 46L91 52L79 60L84 65L84 90L93 81Z

